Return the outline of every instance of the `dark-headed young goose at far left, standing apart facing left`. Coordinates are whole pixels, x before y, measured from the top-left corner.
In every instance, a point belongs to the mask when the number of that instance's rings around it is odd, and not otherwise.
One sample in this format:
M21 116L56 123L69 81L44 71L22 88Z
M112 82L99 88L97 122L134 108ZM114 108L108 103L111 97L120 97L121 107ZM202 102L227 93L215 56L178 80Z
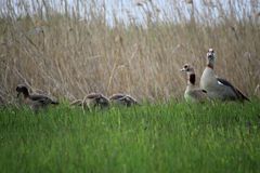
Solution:
M35 111L38 112L40 108L46 108L48 105L53 104L57 105L58 102L52 99L51 97L47 95L40 95L40 94L30 94L27 86L24 84L18 84L16 88L16 91L18 92L17 97L21 93L23 93L23 102L26 105L29 105L29 107Z

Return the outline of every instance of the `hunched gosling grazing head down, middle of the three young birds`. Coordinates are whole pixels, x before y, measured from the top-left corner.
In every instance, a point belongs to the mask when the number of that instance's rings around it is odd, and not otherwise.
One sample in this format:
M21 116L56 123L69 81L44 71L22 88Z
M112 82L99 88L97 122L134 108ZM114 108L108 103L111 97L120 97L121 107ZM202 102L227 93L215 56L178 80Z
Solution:
M78 105L92 109L95 107L105 108L109 106L109 99L101 93L90 93L83 99L76 99L70 105Z

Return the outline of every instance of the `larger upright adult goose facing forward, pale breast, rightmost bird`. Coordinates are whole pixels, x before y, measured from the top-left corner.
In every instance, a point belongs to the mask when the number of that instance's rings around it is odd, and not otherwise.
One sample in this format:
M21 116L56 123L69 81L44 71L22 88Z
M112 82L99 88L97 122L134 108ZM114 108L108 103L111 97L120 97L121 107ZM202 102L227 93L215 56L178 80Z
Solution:
M200 88L207 91L212 99L222 101L249 101L238 89L233 86L227 80L214 75L214 51L209 49L207 53L207 66L200 78Z

